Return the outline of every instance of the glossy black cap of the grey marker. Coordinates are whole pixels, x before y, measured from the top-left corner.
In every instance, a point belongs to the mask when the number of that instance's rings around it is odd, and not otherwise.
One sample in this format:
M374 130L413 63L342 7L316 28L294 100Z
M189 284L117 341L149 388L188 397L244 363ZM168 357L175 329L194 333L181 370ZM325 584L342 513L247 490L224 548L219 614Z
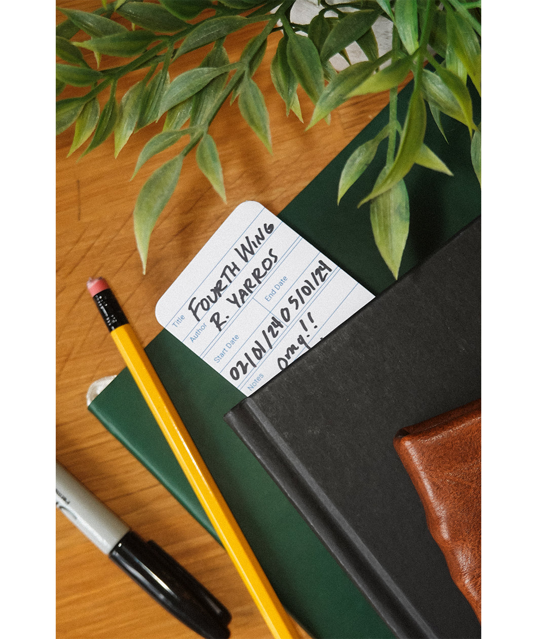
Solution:
M174 617L206 639L227 639L231 615L199 581L154 541L130 530L110 559Z

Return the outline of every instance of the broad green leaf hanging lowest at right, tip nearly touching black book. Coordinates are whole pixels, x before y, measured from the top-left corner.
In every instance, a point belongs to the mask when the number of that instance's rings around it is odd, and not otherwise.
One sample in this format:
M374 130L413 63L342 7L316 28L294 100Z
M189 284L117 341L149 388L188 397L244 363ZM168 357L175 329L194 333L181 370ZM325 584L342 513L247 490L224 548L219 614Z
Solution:
M382 173L381 176L382 178ZM393 277L398 278L409 232L410 207L403 180L374 198L370 207L375 244Z

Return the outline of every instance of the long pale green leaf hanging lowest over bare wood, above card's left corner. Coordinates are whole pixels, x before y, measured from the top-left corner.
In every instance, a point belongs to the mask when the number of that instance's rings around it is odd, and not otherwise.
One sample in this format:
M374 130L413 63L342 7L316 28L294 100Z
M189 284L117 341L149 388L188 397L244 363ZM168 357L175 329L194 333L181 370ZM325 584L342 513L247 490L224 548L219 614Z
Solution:
M168 160L161 167L156 169L149 176L136 200L134 207L134 235L136 245L142 260L144 275L147 265L147 251L149 250L149 239L155 227L156 220L163 208L168 203L179 180L183 166L183 156L178 156Z

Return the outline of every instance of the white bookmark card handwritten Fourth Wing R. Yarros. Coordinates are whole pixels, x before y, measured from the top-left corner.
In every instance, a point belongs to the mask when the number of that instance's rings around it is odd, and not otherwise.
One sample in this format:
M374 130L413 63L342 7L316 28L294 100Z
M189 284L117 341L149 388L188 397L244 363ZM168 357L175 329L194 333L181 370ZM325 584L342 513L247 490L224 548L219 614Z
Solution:
M156 319L249 396L373 297L248 201L158 300Z

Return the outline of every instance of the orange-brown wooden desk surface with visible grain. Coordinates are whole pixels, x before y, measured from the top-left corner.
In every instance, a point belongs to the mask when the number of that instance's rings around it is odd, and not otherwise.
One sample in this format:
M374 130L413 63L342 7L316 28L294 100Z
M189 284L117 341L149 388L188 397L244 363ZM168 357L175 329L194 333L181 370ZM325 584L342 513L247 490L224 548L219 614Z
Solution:
M59 6L97 8L100 2ZM63 17L58 14L57 21ZM238 57L255 27L226 42ZM57 431L56 456L96 497L144 539L153 539L194 574L231 611L236 639L268 639L268 627L225 551L171 497L139 461L87 411L92 381L124 365L86 291L93 275L106 277L126 316L147 344L161 327L155 305L236 206L246 199L278 213L387 104L387 94L356 98L305 132L306 124L271 88L269 61L277 36L255 75L271 117L273 155L250 131L238 105L228 103L211 126L222 161L227 204L200 173L192 155L151 238L147 274L142 275L133 235L132 211L149 174L166 151L130 181L138 154L162 122L133 135L114 160L110 137L79 160L66 157L73 127L57 137ZM192 64L207 48L193 52ZM127 85L120 85L118 92ZM270 89L265 91L265 88ZM312 113L299 94L304 121ZM147 596L61 513L57 512L58 639L190 639L198 635ZM306 638L308 635L303 632Z

